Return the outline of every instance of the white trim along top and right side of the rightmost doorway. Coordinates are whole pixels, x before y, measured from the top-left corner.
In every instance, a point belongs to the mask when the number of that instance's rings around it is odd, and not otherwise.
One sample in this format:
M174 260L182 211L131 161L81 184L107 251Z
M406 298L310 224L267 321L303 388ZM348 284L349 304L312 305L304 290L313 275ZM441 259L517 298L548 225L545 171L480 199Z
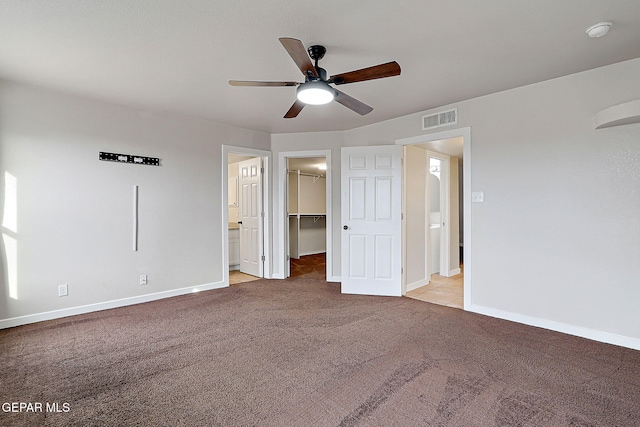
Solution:
M418 135L410 138L397 139L398 145L414 145L434 142L443 139L459 138L463 139L462 146L462 171L463 171L463 236L464 236L464 310L471 309L472 301L472 215L471 215L471 128L463 127L450 129L442 132L434 132L425 135ZM404 166L403 166L404 169ZM404 242L403 242L404 246Z

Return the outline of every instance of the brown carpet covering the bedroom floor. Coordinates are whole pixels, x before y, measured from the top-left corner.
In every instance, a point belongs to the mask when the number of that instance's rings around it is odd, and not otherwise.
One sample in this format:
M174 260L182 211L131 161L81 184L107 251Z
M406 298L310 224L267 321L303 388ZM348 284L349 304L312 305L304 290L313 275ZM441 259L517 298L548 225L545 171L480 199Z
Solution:
M2 426L640 425L640 352L314 275L2 330L0 366L43 404Z

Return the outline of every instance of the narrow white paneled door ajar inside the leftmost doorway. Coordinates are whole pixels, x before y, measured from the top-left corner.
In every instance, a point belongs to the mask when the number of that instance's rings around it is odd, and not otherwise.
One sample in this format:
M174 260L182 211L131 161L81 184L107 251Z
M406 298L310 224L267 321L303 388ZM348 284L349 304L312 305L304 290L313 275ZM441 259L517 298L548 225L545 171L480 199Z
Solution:
M262 277L262 168L259 157L239 163L240 271Z

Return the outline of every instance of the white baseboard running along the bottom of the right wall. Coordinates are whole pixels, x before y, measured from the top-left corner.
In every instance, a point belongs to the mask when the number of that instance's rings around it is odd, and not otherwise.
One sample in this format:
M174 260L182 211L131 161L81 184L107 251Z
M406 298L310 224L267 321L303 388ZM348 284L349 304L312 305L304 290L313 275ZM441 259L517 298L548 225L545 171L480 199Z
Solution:
M536 326L538 328L549 329L551 331L562 332L564 334L587 338L594 341L600 341L607 344L619 345L621 347L627 347L633 350L640 350L640 339L637 338L612 334L610 332L599 331L596 329L583 328L582 326L570 325L568 323L556 322L554 320L525 316L518 313L512 313L509 311L498 310L495 308L484 307L480 305L471 304L468 307L465 306L464 309L466 311L483 314L485 316L510 320L512 322L522 323L529 326Z

